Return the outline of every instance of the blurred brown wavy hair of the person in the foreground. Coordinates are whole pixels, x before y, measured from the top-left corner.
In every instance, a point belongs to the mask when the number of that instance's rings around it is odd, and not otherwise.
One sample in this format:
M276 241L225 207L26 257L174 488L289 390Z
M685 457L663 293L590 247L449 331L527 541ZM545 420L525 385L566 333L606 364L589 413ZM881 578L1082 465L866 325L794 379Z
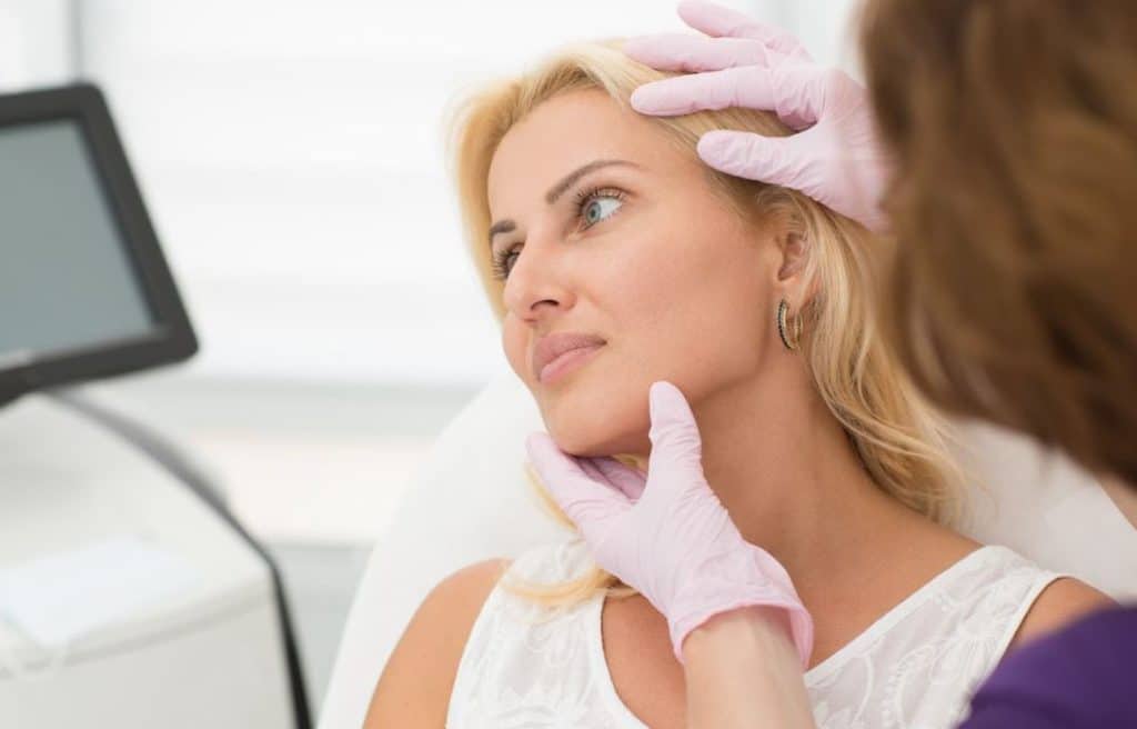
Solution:
M869 0L880 321L930 400L1137 483L1137 8Z

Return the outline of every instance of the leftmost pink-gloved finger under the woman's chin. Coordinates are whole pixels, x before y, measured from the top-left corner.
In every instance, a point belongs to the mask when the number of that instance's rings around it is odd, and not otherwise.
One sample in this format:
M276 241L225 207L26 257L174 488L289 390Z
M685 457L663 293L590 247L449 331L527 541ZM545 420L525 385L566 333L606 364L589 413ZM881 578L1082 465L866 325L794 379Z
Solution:
M626 496L590 478L546 433L531 433L525 450L549 495L581 531L601 532L631 508Z

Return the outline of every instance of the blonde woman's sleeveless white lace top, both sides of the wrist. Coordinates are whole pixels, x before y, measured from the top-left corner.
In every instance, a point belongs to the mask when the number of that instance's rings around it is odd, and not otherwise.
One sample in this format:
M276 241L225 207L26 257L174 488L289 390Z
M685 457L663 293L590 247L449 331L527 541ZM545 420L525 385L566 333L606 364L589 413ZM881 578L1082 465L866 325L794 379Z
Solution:
M579 537L523 553L509 573L556 582L591 565ZM1038 594L1061 574L1006 547L969 554L806 672L819 729L955 727ZM608 673L603 595L546 608L503 589L482 607L458 665L449 729L644 729Z

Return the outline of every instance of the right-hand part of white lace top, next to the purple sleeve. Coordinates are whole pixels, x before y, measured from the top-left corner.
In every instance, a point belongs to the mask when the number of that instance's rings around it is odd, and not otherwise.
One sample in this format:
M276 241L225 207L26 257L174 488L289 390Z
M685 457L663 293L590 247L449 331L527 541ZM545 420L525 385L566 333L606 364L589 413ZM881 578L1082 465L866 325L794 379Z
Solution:
M976 549L806 672L819 729L956 727L1061 577L1003 546Z

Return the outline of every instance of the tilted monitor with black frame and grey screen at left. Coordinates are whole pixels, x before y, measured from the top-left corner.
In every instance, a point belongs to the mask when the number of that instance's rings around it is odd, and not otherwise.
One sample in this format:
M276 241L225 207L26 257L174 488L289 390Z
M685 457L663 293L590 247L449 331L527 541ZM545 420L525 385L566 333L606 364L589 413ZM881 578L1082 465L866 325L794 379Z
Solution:
M99 89L0 94L0 405L197 337Z

